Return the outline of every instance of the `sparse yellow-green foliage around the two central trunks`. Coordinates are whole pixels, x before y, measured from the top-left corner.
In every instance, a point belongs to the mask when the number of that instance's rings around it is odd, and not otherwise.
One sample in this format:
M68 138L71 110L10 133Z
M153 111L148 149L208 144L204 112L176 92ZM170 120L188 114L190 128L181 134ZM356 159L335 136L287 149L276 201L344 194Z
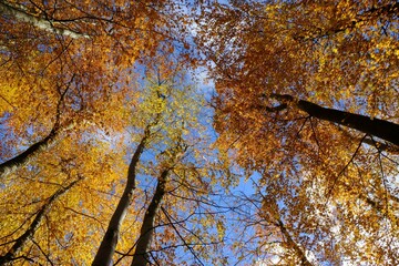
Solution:
M137 168L137 190L134 191L131 206L134 211L127 213L126 222L123 223L117 250L134 252L134 244L140 237L134 228L140 227L140 222L147 214L146 208L161 173L170 168L165 184L167 193L162 198L162 208L157 209L155 219L153 255L157 257L156 250L162 250L162 260L178 262L182 259L180 250L190 248L184 246L184 239L190 245L195 244L193 250L201 254L202 258L209 259L209 249L200 243L222 242L224 228L218 215L206 214L212 207L203 198L213 191L211 182L214 185L217 182L214 180L217 176L209 178L211 171L216 168L211 170L214 165L206 160L212 155L206 154L211 153L211 140L200 115L204 111L204 101L194 85L184 84L187 73L172 69L178 73L175 76L170 74L171 66L162 69L162 59L156 62L158 64L149 71L145 80L133 84L137 102L131 106L131 126L127 127L132 147L135 147L147 125L151 125L151 133ZM201 223L197 224L197 221ZM218 227L213 232L216 221ZM187 227L193 228L188 231ZM129 260L119 255L115 258Z

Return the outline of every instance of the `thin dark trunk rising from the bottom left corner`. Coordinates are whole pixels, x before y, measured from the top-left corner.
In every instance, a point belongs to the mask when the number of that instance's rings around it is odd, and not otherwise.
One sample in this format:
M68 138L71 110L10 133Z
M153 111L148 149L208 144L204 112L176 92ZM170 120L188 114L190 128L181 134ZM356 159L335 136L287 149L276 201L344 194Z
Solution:
M51 197L47 200L47 203L39 209L38 214L35 215L33 222L29 226L29 228L23 233L20 237L18 237L12 245L12 247L8 250L8 253L0 257L0 266L6 265L12 262L17 255L17 253L25 245L25 243L33 237L35 231L39 228L40 223L44 218L44 216L49 213L52 204L64 193L72 188L81 178L72 182L65 187L60 188Z

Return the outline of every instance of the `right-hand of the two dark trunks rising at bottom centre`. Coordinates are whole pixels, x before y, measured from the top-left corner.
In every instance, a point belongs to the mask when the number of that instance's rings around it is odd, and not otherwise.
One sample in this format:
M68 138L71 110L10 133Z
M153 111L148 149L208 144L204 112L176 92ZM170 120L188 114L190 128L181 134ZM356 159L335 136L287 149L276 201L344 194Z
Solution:
M162 172L155 188L154 196L144 215L143 224L140 231L140 238L137 241L136 248L133 255L132 266L144 266L147 265L147 263L150 262L147 250L154 233L155 214L160 206L162 197L165 195L165 184L168 172L170 168Z

